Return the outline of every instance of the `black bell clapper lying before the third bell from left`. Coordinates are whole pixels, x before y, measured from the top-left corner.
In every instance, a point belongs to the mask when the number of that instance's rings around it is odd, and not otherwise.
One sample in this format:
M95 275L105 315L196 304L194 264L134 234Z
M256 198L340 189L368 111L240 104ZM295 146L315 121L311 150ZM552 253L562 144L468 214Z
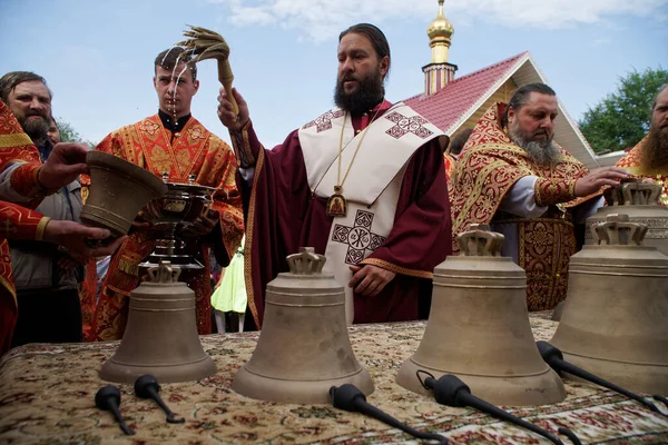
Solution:
M420 373L424 373L429 375L429 377L426 377L424 382L422 382ZM471 394L471 388L469 388L469 386L465 383L463 383L459 377L452 374L446 374L436 380L431 374L424 370L419 370L418 379L420 379L420 383L426 389L433 390L436 402L441 405L455 407L471 406L475 409L491 415L492 417L510 422L511 424L532 431L536 434L540 434L541 436L550 439L557 445L563 445L563 442L561 442L559 437L557 437L552 433L540 428L533 425L532 423L523 421L520 417L513 416L509 412L503 411L481 398L475 397ZM570 429L559 428L559 433L567 436L574 445L581 445L578 436L576 436L574 433Z

